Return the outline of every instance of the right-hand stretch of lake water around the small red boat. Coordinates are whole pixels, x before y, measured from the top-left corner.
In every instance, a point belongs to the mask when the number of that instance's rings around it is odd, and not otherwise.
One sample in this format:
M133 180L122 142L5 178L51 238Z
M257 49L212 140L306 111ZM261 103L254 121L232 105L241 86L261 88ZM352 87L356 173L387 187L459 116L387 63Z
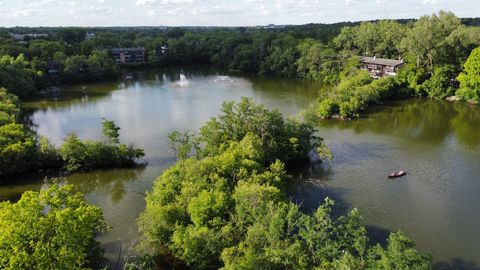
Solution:
M295 197L306 209L333 194L340 210L359 208L374 231L406 232L438 265L480 264L478 107L408 100L354 121L322 121L319 130L334 159L328 173L308 176L321 179L321 188L298 185ZM400 169L407 176L387 179Z

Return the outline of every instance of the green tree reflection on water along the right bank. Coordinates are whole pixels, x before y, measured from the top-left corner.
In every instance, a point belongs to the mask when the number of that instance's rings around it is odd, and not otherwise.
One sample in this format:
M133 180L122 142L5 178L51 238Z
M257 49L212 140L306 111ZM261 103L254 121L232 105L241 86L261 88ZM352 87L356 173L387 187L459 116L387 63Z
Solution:
M329 120L322 127L375 132L418 143L480 143L480 113L476 106L443 101L409 100L372 109L368 117L354 121ZM450 141L455 140L455 142Z

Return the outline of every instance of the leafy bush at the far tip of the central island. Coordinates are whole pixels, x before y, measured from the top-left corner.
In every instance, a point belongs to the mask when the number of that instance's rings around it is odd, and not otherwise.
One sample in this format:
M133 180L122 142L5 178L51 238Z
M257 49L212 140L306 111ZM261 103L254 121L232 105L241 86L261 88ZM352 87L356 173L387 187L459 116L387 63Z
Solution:
M212 118L200 129L198 141L204 146L204 156L218 153L222 144L240 141L248 133L260 138L265 164L276 159L285 163L305 160L312 149L323 145L311 125L285 121L277 110L269 111L250 98L226 102L221 110L218 118Z

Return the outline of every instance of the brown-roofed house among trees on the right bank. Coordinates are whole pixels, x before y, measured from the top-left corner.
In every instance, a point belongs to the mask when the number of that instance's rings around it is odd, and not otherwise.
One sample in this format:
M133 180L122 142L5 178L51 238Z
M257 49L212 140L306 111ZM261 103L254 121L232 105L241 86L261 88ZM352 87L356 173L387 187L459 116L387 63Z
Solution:
M360 63L361 69L368 71L370 77L378 79L385 76L396 76L398 69L403 66L403 59L362 57Z

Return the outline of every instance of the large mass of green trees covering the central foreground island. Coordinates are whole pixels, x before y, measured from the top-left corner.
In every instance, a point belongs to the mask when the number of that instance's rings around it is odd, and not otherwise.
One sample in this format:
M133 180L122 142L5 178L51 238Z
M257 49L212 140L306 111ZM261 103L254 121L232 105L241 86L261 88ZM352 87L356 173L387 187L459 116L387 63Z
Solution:
M258 128L276 112L248 100L226 103L223 112L201 129L202 154L179 159L147 195L139 218L144 247L167 250L195 269L430 269L429 256L402 233L391 234L386 248L368 244L356 209L334 218L326 199L303 213L285 192L290 156L275 151L284 135L272 133L289 130L288 122ZM221 128L205 137L211 126ZM319 142L311 127L289 137ZM304 160L307 150L298 152Z

